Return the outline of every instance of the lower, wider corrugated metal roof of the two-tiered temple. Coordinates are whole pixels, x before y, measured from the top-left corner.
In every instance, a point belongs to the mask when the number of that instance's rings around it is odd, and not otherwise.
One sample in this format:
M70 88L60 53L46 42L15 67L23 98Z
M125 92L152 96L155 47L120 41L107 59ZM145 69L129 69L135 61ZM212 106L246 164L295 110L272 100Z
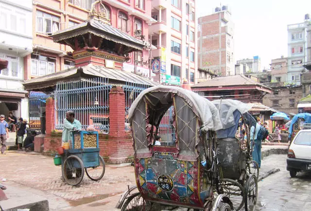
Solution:
M70 78L79 77L81 73L93 76L93 77L103 77L108 78L109 82L125 84L126 81L133 82L136 84L144 84L148 86L156 86L158 83L151 81L147 78L141 77L139 75L126 72L123 70L108 69L103 66L96 66L89 64L87 66L79 68L71 68L68 70L58 71L49 75L44 75L38 78L27 80L23 83L26 90L47 88L54 86L58 81L68 80ZM82 75L83 77L83 75ZM111 81L112 80L112 81Z

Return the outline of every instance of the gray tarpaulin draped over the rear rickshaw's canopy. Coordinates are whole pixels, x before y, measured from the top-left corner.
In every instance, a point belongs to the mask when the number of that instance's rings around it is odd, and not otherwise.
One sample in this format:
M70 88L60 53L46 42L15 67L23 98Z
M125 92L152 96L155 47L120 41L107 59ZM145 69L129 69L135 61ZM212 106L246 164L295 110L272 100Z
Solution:
M239 110L241 114L252 108L252 104L245 104L237 100L214 100L213 103L219 110L220 120L223 124L223 129L227 129L235 125L234 114L235 110ZM220 108L221 106L221 108Z

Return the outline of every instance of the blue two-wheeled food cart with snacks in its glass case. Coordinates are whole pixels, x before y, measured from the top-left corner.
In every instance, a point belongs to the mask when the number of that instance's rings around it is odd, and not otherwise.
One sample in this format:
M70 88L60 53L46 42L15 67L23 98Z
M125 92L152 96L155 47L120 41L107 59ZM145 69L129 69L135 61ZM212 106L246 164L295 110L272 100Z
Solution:
M86 175L94 181L103 178L104 159L99 155L97 131L72 131L72 144L62 155L62 178L76 186Z

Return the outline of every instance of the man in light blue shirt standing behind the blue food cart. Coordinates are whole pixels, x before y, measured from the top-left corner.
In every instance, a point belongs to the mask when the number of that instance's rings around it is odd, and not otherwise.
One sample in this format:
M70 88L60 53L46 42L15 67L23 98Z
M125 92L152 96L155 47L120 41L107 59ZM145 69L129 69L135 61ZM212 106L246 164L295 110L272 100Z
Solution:
M72 141L72 133L71 130L81 130L82 125L80 121L74 119L74 112L67 111L66 112L66 119L64 119L64 129L62 135L62 142Z

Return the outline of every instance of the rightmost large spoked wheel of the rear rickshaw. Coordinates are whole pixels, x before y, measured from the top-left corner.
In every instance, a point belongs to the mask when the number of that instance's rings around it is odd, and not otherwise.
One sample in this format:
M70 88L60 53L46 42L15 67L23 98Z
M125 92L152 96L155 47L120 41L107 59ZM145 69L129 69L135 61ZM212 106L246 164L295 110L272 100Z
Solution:
M245 185L245 211L255 211L258 184L255 175L250 175Z

